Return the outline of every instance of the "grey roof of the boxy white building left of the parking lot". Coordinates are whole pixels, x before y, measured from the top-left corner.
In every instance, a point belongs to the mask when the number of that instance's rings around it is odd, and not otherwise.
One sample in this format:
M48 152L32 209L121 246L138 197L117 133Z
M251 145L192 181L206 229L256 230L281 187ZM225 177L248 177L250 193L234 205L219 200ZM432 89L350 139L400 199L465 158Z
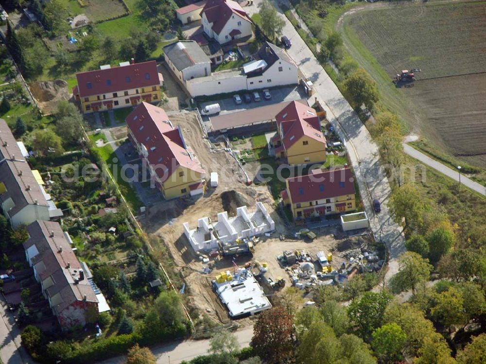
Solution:
M179 71L198 63L211 62L207 54L193 40L175 42L165 46L163 50Z

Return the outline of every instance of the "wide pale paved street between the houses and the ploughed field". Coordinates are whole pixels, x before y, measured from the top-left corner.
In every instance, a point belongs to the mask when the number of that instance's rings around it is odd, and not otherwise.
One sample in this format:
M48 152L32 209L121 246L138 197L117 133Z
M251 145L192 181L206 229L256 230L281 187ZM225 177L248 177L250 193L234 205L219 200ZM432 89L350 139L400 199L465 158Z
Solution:
M260 2L261 0L255 0L252 6L245 6L245 11L250 15L258 12ZM405 251L405 238L401 226L396 224L390 216L388 199L391 189L380 164L378 148L358 115L317 62L309 47L295 31L294 26L282 14L277 3L273 2L273 4L277 8L279 16L285 21L282 34L287 35L292 41L292 47L288 50L289 55L300 67L302 73L314 84L316 93L312 97L315 96L324 102L328 120L335 126L347 147L363 204L370 219L371 230L375 239L380 240L381 237L382 241L386 243L390 253L385 277L386 280L389 280L398 272L397 258ZM374 198L381 203L380 214L375 214L371 206Z

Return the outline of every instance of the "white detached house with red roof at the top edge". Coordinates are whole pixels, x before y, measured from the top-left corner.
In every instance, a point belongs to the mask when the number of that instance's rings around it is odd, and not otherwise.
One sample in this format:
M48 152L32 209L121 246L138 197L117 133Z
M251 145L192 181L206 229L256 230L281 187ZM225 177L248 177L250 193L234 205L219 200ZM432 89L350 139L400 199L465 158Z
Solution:
M233 0L208 0L201 12L203 30L219 44L252 35L251 20Z

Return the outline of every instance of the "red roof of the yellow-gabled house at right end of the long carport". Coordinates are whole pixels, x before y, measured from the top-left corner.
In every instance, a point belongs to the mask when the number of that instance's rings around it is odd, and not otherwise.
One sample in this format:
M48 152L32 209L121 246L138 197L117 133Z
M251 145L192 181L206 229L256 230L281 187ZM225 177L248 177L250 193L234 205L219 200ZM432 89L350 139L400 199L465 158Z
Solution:
M284 107L275 119L282 131L282 144L285 149L289 149L303 136L326 144L319 118L316 116L316 111L310 106L293 101Z

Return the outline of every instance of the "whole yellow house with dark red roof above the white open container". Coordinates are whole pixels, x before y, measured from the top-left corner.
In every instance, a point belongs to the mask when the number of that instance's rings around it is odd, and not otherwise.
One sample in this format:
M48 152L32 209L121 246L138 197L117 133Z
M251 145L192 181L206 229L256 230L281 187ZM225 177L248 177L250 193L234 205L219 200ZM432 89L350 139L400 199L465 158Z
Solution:
M281 191L295 220L346 213L356 209L354 177L350 168L313 169L307 175L287 178Z

